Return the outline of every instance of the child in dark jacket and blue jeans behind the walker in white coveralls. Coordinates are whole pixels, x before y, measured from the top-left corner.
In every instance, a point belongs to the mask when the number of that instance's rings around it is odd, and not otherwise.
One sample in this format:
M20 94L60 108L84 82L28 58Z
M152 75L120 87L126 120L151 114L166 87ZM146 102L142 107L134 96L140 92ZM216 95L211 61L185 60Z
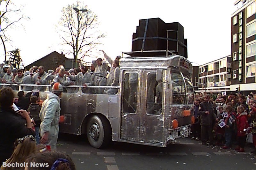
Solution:
M36 144L40 143L40 136L39 136L39 128L41 124L41 120L39 118L39 113L41 110L41 106L38 104L38 99L36 96L30 97L30 105L28 107L28 112L30 112L30 118L33 118L36 125L35 125L35 133L36 133Z

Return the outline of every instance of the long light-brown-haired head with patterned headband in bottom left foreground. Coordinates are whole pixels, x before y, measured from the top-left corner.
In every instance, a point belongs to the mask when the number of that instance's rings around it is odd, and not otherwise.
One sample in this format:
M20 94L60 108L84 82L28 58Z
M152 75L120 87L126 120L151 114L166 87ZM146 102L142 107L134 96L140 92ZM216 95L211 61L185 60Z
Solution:
M6 160L7 164L12 163L24 163L28 155L35 153L36 151L36 142L35 138L32 135L28 135L22 138L17 139L17 146L15 147L12 156ZM3 167L1 166L1 170L17 170L17 167ZM19 169L19 168L18 168Z

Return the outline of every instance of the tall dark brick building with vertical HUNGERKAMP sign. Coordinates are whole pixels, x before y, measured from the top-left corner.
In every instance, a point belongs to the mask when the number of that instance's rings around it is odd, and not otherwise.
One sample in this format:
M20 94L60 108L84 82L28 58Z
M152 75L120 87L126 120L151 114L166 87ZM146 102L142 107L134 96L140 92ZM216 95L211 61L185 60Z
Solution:
M230 90L256 89L256 1L247 0L231 16L232 78Z

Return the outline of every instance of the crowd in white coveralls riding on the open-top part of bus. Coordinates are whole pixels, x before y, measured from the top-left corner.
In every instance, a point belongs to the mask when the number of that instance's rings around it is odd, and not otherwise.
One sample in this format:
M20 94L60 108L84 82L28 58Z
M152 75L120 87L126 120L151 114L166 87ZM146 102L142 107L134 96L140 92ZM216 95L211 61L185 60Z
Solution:
M24 69L23 65L19 66L19 70L13 69L12 65L0 64L0 82L5 84L12 84L13 90L19 90L20 84L25 85L53 85L59 82L61 85L83 85L82 91L84 93L105 93L116 94L115 88L92 88L88 89L88 85L97 86L118 86L119 82L119 60L121 56L116 56L112 60L103 50L104 58L111 64L108 72L108 63L98 58L92 61L90 67L78 61L79 67L66 70L64 66L58 66L54 70L44 70L44 66L34 66L29 70ZM47 72L46 72L47 71ZM5 87L5 86L2 86ZM23 86L22 91L32 91L38 89L45 91L43 86ZM64 92L78 92L78 88L67 87L63 89Z

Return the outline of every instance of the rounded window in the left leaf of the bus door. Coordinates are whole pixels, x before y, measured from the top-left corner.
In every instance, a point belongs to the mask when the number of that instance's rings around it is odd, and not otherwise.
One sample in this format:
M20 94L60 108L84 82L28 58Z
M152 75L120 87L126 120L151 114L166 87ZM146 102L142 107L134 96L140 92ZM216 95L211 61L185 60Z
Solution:
M124 113L137 111L138 73L126 73L124 76Z

